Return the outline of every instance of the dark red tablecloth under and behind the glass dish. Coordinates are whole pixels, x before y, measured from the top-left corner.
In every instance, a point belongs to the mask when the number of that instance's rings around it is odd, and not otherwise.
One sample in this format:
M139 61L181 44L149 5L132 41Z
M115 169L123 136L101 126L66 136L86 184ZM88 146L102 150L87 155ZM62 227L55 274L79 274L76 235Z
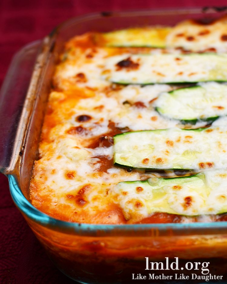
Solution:
M44 37L67 18L97 11L203 7L226 5L225 0L0 0L0 85L12 55L23 45ZM8 180L0 174L0 283L75 283L46 256L14 206Z

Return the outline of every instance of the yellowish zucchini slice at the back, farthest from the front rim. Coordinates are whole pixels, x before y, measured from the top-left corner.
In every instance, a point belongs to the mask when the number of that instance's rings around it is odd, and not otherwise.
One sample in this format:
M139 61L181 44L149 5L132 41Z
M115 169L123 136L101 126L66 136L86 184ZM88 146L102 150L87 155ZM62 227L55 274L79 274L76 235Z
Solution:
M98 34L95 41L110 47L165 48L166 36L171 30L169 27L129 28Z

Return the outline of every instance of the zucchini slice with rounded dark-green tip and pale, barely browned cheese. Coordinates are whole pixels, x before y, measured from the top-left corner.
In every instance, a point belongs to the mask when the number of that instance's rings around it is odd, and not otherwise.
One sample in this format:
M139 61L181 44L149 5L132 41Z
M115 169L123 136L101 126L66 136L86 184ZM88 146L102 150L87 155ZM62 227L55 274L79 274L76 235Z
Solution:
M227 115L227 85L216 82L163 92L154 103L156 110L168 118L195 124L214 121Z

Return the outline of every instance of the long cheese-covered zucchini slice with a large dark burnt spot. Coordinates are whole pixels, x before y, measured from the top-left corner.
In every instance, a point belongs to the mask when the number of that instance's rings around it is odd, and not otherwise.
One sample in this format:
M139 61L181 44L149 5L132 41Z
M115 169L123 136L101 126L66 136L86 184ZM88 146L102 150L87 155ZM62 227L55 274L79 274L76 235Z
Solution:
M227 81L227 54L122 54L110 56L102 78L117 84Z

